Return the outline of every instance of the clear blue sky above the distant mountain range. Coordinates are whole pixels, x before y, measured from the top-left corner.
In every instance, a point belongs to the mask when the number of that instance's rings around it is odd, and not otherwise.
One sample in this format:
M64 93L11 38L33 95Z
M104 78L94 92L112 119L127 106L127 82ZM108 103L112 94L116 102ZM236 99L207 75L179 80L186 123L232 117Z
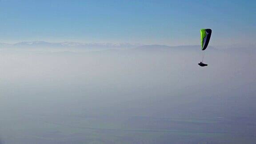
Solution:
M255 0L0 0L0 42L255 44Z

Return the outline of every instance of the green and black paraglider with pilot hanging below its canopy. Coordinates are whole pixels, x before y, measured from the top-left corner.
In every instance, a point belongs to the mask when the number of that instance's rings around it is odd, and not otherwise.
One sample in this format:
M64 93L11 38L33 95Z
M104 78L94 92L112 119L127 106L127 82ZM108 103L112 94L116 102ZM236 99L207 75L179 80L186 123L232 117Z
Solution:
M202 51L204 51L208 44L209 44L209 41L210 41L210 38L211 38L211 35L212 35L212 30L211 29L201 29L200 30L200 33L201 33L201 49ZM207 66L208 64L204 64L204 54L203 54L203 59L202 61L198 64L200 65L201 67L204 67L204 66Z

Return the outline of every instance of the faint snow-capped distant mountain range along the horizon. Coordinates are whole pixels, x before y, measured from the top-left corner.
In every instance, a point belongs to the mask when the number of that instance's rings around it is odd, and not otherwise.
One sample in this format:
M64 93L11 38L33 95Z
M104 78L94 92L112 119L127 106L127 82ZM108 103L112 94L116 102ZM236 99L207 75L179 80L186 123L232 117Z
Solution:
M53 49L53 48L74 48L74 49L85 49L85 50L106 50L106 49L133 49L133 50L147 50L147 51L163 51L163 50L199 50L200 45L185 45L185 46L167 46L167 45L143 45L143 44L130 44L130 43L76 43L76 42L60 42L60 43L50 43L45 41L25 41L16 44L6 44L0 43L0 49L2 48L43 48L43 49ZM222 49L222 48L220 48ZM218 50L218 48L208 46L208 50ZM224 49L226 52L232 51L252 51L256 52L255 47L230 47Z

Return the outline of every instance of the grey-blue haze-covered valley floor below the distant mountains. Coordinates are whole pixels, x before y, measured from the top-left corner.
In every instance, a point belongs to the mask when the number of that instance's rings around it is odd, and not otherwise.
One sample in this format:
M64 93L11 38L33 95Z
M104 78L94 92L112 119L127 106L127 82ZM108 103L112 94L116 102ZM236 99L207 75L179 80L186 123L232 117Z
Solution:
M0 144L254 144L255 52L0 51Z

